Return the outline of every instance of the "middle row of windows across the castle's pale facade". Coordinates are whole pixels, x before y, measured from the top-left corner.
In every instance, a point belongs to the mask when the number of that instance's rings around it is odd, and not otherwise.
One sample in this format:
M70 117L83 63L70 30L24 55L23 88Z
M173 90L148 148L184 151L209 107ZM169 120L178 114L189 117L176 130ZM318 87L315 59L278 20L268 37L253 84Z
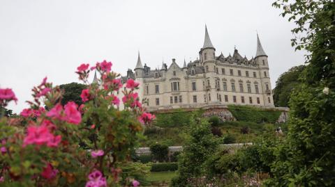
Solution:
M207 80L207 85L210 86L209 84L209 80ZM203 82L203 86L204 86L204 82ZM236 88L235 88L235 83L231 83L232 86L232 92L236 92ZM259 90L258 90L258 84L255 84L255 93L258 94ZM266 86L266 90L269 90L269 84L265 84ZM216 81L216 85L215 88L221 88L220 87L220 81ZM251 93L251 84L248 83L246 84L246 88L248 93ZM195 82L192 82L192 90L196 91L197 90L197 86ZM172 82L171 83L171 91L179 91L179 82ZM223 82L223 91L228 91L227 89L227 82ZM149 94L149 86L146 86L146 92L147 95ZM244 92L244 85L243 83L239 83L239 92ZM159 85L155 85L155 93L158 94L159 93Z

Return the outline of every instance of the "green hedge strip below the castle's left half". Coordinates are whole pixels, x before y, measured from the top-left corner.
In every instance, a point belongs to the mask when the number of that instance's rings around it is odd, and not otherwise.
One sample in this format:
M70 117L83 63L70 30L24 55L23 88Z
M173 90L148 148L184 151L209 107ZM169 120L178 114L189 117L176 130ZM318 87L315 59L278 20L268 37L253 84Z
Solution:
M170 113L156 113L154 125L158 127L180 127L190 124L191 117L201 117L203 111L184 111L175 109Z

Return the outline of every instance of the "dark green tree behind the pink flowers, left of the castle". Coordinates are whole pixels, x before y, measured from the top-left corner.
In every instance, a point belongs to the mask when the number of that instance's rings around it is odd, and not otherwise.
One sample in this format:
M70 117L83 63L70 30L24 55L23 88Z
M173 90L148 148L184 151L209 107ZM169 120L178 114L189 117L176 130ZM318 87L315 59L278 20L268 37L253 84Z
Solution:
M65 105L68 101L74 101L75 104L80 106L82 104L82 98L80 94L82 90L87 88L84 84L81 83L67 83L59 86L61 90L64 90L63 98L61 99L61 105Z

